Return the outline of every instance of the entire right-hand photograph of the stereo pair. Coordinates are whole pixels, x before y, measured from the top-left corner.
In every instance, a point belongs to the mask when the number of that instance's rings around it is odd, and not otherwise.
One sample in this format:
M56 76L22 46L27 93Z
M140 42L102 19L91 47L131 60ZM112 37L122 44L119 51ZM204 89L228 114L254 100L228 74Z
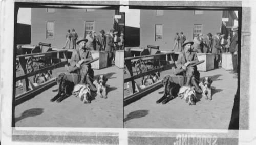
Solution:
M130 8L124 128L238 129L239 13L236 7Z

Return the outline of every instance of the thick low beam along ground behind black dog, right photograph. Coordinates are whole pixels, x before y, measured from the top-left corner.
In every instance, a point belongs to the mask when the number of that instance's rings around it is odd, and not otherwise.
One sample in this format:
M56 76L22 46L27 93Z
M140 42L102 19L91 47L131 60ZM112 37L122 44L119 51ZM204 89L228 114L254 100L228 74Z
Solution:
M142 89L141 92L134 93L130 96L124 97L123 106L127 106L132 102L144 97L145 95L161 88L163 84L161 83L162 80L157 81L156 83L148 86L147 88Z

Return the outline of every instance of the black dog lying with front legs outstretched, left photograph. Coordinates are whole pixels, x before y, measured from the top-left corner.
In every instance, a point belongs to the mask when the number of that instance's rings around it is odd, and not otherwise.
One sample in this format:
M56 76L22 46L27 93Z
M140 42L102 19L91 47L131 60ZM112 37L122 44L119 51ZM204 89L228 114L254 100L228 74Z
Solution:
M51 99L51 102L58 99L57 102L59 103L72 93L74 89L74 82L69 81L65 73L61 73L57 77L56 81L59 84L58 94ZM61 96L62 93L63 95Z

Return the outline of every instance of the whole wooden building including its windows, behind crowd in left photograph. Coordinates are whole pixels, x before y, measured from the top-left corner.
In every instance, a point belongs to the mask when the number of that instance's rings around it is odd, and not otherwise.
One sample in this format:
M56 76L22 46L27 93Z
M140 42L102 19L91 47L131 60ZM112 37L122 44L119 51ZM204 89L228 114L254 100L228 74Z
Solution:
M51 43L52 47L62 48L66 42L66 33L75 29L79 37L88 32L105 32L115 28L119 35L124 32L124 13L119 10L102 9L31 9L31 44ZM71 41L72 46L72 41Z

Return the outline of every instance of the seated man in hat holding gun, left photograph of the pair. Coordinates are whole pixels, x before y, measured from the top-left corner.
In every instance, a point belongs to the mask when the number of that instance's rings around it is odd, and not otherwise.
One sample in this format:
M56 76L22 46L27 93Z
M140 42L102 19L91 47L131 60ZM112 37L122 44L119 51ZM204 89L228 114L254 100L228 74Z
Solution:
M70 60L71 67L76 67L80 71L78 72L81 78L79 82L84 85L86 84L86 79L87 81L89 80L89 78L86 77L90 76L91 78L93 78L94 75L91 64L83 65L84 62L93 60L90 48L86 48L87 41L88 40L84 39L83 37L80 37L78 39L76 44L79 45L79 48L73 51Z

